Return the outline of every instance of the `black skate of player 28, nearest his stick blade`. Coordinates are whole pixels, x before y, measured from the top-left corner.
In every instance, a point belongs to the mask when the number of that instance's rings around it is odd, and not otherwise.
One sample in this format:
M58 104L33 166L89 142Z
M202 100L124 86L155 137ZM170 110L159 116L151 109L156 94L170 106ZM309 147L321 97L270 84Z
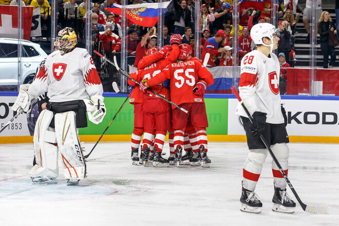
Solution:
M274 195L272 202L273 202L272 207L273 211L289 214L294 213L295 202L287 194L286 189L281 190L279 189L279 187L274 187Z

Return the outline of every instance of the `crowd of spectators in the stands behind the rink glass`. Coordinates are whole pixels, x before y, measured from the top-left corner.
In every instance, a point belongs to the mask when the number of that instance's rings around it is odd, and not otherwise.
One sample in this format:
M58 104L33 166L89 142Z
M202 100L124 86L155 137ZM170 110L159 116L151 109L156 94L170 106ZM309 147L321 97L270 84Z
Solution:
M2 0L0 4L17 5L20 0ZM88 1L88 0L87 0ZM128 0L128 4L153 3L156 0ZM51 3L52 0L24 0L22 5L41 8L41 26L45 35L50 35L51 27ZM105 55L115 55L121 51L121 39L123 39L122 17L115 15L105 8L114 3L121 4L121 0L93 1L91 3L91 39L95 49L101 50ZM159 48L158 39L163 39L163 45L168 45L171 34L181 34L182 43L192 46L193 56L196 52L203 60L206 53L210 53L208 66L234 66L239 65L241 58L256 48L252 42L250 31L257 23L271 23L272 11L278 15L278 31L280 33L278 56L281 68L282 82L286 82L286 68L294 67L295 58L295 33L296 23L303 14L303 23L307 31L305 43L310 43L310 16L312 1L306 1L303 9L298 0L279 0L277 8L271 6L271 1L265 1L265 8L257 10L249 8L241 12L238 33L236 35L237 46L234 46L232 24L232 0L202 0L197 6L193 0L173 0L165 10L163 36L158 37L156 27L143 27L131 24L125 30L127 43L128 64L138 65L146 55L147 49ZM335 63L334 46L330 44L331 32L337 34L337 27L332 22L329 12L322 10L321 0L315 0L315 20L317 33L320 35L320 46L324 54L324 68L331 68ZM79 40L85 43L86 39L86 0L58 0L58 31L63 27L73 27L80 36ZM201 7L201 17L196 20L195 9ZM339 1L335 1L335 12L339 14ZM199 26L196 26L199 23ZM338 22L337 22L338 23ZM195 30L199 29L196 37ZM50 37L50 36L49 36ZM199 45L196 46L196 39ZM233 51L237 50L237 59L233 59ZM198 50L198 51L196 51ZM329 55L331 60L329 62ZM235 62L235 63L234 63ZM284 91L282 93L285 93Z

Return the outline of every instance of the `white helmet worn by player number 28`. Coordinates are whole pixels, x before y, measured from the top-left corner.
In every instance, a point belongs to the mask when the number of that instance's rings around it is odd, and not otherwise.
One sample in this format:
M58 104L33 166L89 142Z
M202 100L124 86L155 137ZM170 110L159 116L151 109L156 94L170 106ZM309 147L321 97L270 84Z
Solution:
M260 23L256 24L251 29L251 39L253 40L254 44L264 45L271 48L271 52L273 50L273 36L279 36L279 31L269 23ZM266 45L262 42L263 37L268 37L271 40L271 45Z

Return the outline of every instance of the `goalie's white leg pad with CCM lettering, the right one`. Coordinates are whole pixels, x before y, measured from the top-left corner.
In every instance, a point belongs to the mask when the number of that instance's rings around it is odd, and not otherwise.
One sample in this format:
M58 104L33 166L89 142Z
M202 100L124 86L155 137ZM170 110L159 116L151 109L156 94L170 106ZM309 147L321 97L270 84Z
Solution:
M54 124L55 136L64 164L65 178L84 179L86 163L76 129L76 114L74 111L55 114Z

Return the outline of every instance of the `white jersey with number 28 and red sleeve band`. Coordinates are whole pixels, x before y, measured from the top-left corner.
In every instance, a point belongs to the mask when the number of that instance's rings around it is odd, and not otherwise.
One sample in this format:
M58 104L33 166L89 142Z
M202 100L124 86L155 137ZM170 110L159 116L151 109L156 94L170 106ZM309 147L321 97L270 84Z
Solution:
M272 52L270 56L254 50L242 58L239 95L251 115L255 111L265 112L266 122L280 124L284 123L279 92L280 66L277 56ZM248 118L240 103L236 114Z

